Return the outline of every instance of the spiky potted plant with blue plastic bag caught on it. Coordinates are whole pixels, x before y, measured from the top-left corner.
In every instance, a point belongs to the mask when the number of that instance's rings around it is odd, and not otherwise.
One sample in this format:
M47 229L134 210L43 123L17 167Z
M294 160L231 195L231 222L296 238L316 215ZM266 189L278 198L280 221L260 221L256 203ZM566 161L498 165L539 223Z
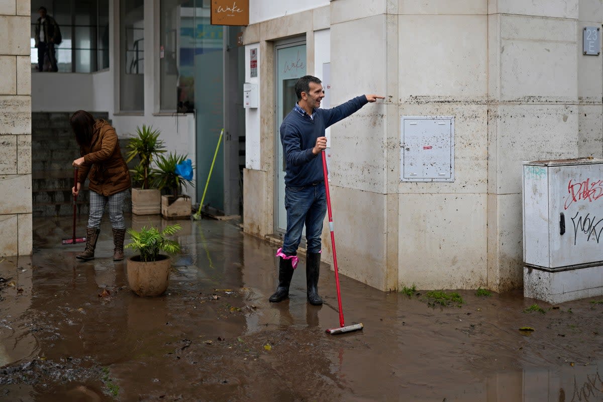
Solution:
M157 168L153 170L155 185L162 190L161 215L164 218L188 218L191 216L191 197L182 194L182 189L194 186L192 180L180 176L176 166L184 162L188 155L170 152L167 156L159 155Z

